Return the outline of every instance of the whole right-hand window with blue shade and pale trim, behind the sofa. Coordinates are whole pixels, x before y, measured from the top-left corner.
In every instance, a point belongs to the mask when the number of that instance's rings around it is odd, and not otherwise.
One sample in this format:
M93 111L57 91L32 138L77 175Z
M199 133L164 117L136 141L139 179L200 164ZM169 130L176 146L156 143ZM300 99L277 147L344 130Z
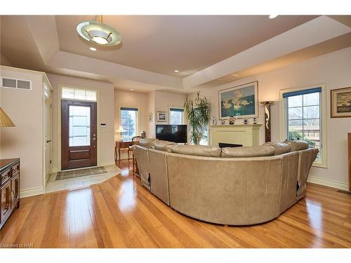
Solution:
M315 163L323 163L322 87L315 86L281 91L284 102L284 123L287 140L305 140L310 148L319 149Z

